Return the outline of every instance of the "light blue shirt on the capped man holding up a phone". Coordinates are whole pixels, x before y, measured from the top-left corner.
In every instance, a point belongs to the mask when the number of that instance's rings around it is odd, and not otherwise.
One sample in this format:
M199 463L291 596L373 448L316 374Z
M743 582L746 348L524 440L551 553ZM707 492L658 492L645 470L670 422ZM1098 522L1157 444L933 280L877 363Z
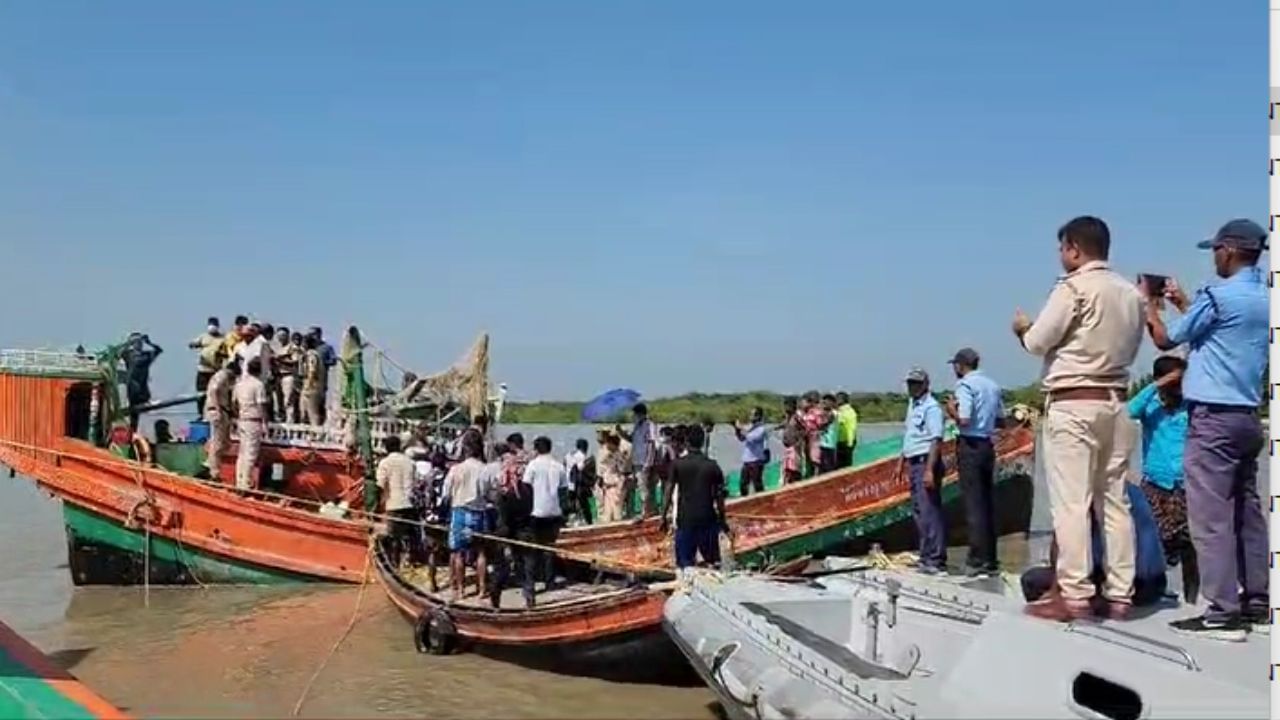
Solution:
M1190 402L1258 407L1267 368L1271 300L1258 268L1201 288L1169 328L1169 340L1187 343L1183 396Z

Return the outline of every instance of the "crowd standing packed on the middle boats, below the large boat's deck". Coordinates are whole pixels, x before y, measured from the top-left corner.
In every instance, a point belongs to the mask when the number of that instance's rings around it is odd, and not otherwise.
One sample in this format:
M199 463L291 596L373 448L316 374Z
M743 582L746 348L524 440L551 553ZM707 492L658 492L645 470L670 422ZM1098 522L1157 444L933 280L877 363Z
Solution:
M794 447L796 471L790 482L837 469L852 461L856 413L847 396L809 393L787 401L787 421L776 429ZM425 565L436 592L436 566L448 553L456 597L466 594L466 568L475 566L477 596L494 607L512 573L518 574L526 606L536 585L556 587L554 555L540 548L556 543L567 523L644 520L660 514L663 529L675 516L678 568L719 561L718 538L728 532L724 473L710 457L710 421L658 427L648 407L631 410L630 428L613 425L596 434L596 448L579 438L563 459L552 455L552 441L512 433L493 442L489 421L477 416L462 433L433 436L424 425L413 437L389 437L376 478L390 520L393 562ZM742 443L742 495L763 491L763 469L771 461L771 428L764 411L753 410L733 423ZM659 492L660 488L660 492ZM660 503L659 503L660 498ZM426 529L448 528L443 537ZM480 539L477 539L477 537ZM488 538L488 539L485 539ZM504 541L520 541L511 543ZM490 565L493 571L489 571Z

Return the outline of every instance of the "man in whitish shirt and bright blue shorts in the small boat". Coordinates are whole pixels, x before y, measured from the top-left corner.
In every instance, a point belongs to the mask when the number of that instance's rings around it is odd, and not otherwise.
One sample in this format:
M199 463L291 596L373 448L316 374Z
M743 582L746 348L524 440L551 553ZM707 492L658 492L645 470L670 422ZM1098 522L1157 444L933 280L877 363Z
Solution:
M462 443L465 459L444 477L444 496L449 498L449 584L453 597L461 598L466 577L467 551L476 553L476 589L480 597L485 592L485 546L472 542L472 533L489 532L489 512L486 507L488 488L485 487L485 465L480 460L484 447L480 443Z

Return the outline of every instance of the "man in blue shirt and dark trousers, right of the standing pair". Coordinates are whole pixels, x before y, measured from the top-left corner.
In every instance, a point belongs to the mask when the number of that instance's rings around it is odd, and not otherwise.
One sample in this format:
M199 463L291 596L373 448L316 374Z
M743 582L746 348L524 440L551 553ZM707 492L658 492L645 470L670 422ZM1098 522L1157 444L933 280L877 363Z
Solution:
M970 577L988 577L1000 569L996 561L996 446L991 437L1004 424L1005 404L1000 386L978 369L978 351L964 347L951 357L956 392L947 400L947 415L960 428L956 439L956 473L964 491L969 525Z

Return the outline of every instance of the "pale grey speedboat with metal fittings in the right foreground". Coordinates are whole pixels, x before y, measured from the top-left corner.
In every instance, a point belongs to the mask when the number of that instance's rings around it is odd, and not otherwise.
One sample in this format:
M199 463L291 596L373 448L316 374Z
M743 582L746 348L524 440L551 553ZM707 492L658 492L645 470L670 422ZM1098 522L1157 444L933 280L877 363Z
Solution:
M1023 612L1016 578L829 559L790 582L695 571L664 621L735 719L1267 717L1270 638L1170 630L1193 612L1059 624Z

